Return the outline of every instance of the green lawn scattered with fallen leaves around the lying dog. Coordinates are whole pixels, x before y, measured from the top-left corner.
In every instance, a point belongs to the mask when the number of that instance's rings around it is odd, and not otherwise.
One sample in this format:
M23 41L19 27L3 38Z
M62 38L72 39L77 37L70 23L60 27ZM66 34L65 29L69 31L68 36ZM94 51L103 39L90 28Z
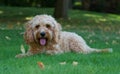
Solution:
M0 7L0 74L120 74L120 15L115 14L70 10L68 20L57 19L63 30L78 33L89 46L110 47L113 53L15 58L21 45L28 48L24 23L35 15L52 13L52 8ZM37 62L43 62L44 69Z

